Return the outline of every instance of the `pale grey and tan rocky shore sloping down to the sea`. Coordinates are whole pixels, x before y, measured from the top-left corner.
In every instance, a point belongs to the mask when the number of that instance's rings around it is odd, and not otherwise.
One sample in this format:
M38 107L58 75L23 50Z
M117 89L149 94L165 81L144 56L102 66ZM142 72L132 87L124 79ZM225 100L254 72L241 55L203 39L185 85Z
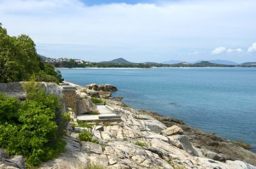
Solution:
M75 84L77 98L90 99L86 87ZM46 91L63 96L61 88L44 84ZM47 88L49 87L49 89ZM24 91L16 90L26 97ZM8 94L8 93L7 93ZM15 96L15 93L11 93ZM110 99L104 99L108 107L121 116L119 121L94 121L92 128L74 127L73 118L67 126L66 152L59 158L43 162L40 168L253 168L256 169L256 154L227 139L212 133L193 129L178 119L163 117L150 111L136 110ZM92 103L90 102L90 105ZM85 104L86 106L86 104ZM84 130L92 133L99 144L82 142L77 137ZM4 152L4 150L1 150ZM4 154L4 153L1 153ZM1 155L0 154L0 155ZM0 156L0 168L9 166ZM13 160L11 161L13 162ZM15 162L14 162L15 163Z

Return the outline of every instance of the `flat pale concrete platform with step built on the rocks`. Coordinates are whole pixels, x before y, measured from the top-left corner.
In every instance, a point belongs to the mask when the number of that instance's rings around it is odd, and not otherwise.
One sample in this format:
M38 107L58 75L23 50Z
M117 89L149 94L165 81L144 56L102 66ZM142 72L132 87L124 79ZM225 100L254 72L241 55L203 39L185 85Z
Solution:
M113 113L113 111L110 109L110 107L105 105L97 105L99 115L77 115L77 119L81 121L105 121L105 120L119 120L121 119L120 115L117 115L116 113Z

